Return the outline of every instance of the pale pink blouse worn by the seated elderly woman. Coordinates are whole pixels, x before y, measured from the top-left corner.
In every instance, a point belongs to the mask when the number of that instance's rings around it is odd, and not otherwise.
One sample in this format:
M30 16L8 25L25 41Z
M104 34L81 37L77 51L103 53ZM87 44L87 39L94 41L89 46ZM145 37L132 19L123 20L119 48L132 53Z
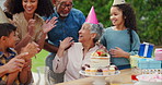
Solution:
M79 71L81 66L85 63L90 62L90 57L92 52L96 51L99 46L91 48L83 59L83 47L81 42L74 42L66 52L65 56L59 58L58 56L55 57L53 61L53 69L56 73L61 73L66 71L65 74L65 82L78 80L82 76Z

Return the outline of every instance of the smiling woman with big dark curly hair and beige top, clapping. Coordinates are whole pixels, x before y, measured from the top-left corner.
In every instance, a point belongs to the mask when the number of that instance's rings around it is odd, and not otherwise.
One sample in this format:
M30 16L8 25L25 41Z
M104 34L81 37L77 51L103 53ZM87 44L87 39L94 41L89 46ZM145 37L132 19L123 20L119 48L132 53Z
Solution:
M37 42L42 49L46 34L56 23L56 17L46 22L40 17L49 16L54 12L50 0L7 0L4 7L5 12L13 15L13 22L18 27L21 41L18 42L15 50L20 52L30 41Z

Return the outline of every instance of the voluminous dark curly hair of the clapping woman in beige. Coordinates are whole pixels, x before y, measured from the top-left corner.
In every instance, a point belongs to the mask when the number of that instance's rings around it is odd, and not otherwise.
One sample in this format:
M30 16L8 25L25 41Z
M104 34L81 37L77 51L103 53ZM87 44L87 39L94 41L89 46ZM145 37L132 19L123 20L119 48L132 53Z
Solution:
M22 0L7 0L4 2L5 11L15 14L23 12ZM51 0L38 0L37 9L35 13L39 14L40 16L49 16L54 12L54 5Z

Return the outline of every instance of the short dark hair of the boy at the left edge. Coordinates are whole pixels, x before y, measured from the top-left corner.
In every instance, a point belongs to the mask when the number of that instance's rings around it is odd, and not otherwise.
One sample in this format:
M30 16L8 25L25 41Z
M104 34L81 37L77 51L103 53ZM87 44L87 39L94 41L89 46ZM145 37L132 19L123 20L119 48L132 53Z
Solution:
M16 27L10 23L0 23L0 38L2 36L9 36L12 32L15 32Z

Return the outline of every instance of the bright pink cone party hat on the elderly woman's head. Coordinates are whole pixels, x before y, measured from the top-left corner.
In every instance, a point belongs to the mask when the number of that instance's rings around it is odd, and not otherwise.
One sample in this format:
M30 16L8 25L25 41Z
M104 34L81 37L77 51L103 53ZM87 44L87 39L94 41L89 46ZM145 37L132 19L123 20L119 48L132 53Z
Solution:
M89 15L88 15L85 22L91 23L91 24L99 24L97 19L96 19L96 14L94 11L94 7L91 8L91 11L89 12Z

